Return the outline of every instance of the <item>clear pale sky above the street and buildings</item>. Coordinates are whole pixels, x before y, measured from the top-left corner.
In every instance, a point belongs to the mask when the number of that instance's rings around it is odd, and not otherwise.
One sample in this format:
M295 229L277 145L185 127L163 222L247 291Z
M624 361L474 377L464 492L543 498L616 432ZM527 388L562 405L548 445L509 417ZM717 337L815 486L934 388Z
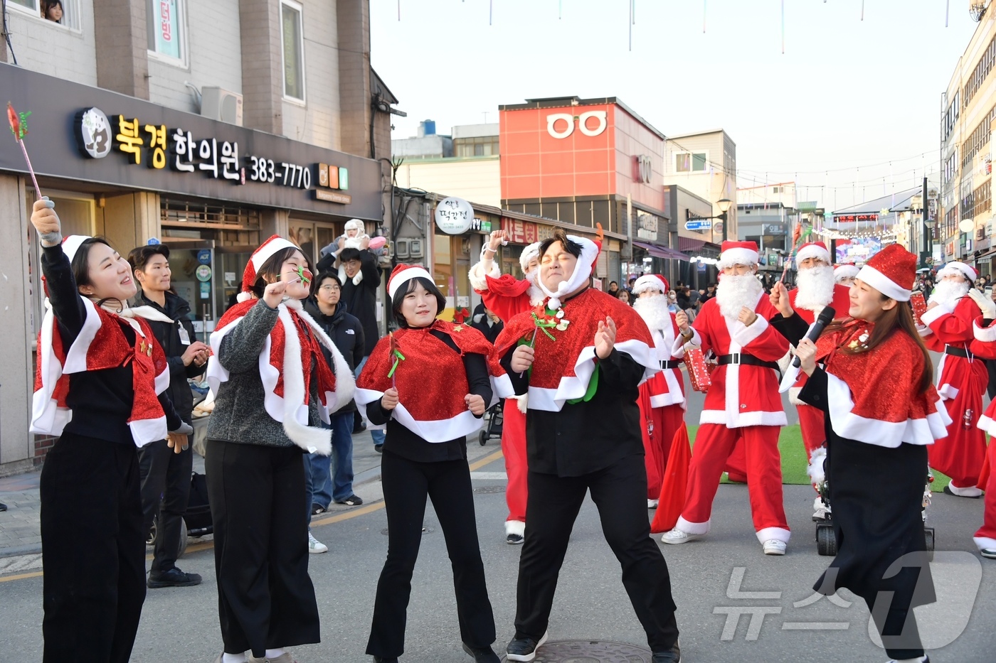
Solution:
M945 28L947 0L784 0L783 54L782 0L373 0L372 60L408 113L395 138L618 97L665 135L725 128L740 186L795 180L840 209L937 172L968 4Z

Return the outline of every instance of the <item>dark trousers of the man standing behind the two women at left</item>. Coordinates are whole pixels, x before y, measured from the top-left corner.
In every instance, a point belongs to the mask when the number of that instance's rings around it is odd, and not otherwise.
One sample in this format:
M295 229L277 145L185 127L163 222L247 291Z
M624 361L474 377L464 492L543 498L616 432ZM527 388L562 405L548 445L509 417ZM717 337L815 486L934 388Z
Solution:
M188 420L184 419L187 423ZM190 472L193 469L193 437L187 436L187 450L174 453L165 440L146 444L138 450L138 476L141 480L142 532L152 527L158 514L155 554L151 575L158 575L176 565L180 547L180 528L190 497Z

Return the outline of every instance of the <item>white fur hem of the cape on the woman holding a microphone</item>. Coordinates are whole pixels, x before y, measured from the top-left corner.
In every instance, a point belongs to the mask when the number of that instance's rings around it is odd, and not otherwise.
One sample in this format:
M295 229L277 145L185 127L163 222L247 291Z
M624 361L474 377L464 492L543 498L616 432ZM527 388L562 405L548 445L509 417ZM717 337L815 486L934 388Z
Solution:
M827 373L827 402L830 405L830 421L835 433L841 437L890 449L898 447L903 442L933 444L934 440L947 437L947 425L951 423L951 417L940 401L937 411L923 419L891 422L855 414L851 387L832 373Z

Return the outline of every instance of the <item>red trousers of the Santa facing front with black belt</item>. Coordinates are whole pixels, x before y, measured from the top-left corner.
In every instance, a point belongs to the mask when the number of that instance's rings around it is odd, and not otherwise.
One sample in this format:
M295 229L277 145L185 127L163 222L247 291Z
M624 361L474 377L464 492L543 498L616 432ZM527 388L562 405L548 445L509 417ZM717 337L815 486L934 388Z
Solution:
M780 426L727 428L702 424L695 435L688 467L688 493L678 529L690 534L709 531L712 500L734 445L740 441L747 461L747 490L750 493L754 530L764 540L788 541L789 525L782 500L782 459L778 453Z

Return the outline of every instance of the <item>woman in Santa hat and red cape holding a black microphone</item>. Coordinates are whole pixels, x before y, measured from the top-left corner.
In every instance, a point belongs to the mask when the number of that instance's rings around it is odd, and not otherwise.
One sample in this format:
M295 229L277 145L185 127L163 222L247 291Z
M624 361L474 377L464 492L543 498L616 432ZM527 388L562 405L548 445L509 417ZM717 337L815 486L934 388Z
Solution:
M885 653L925 662L912 608L935 599L921 518L927 445L947 432L932 365L905 302L916 256L898 245L872 256L851 289L850 319L814 343L798 315L773 325L797 344L809 379L800 398L827 414L825 463L837 556L814 585L865 599ZM785 287L771 300L782 308ZM822 365L818 365L817 362Z

